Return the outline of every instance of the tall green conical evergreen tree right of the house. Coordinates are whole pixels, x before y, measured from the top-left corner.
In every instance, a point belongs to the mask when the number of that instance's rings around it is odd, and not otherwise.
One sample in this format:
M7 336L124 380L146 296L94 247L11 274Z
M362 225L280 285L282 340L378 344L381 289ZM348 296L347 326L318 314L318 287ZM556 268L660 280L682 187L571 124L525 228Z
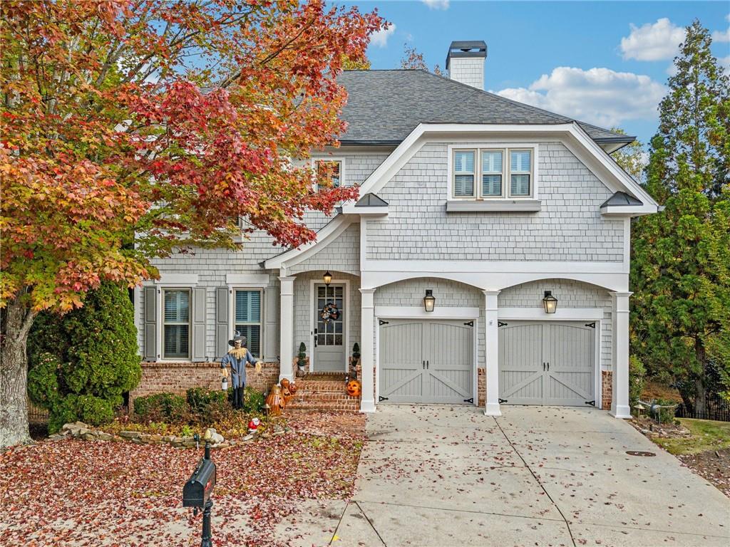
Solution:
M634 223L631 260L632 352L697 411L730 385L730 82L711 42L687 27L650 143L646 187L664 210Z

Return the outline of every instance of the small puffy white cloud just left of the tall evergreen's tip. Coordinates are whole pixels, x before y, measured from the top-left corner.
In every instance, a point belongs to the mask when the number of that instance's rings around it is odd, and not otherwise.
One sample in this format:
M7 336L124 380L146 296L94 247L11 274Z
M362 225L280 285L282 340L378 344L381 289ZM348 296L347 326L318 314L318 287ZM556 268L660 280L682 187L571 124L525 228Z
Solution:
M685 36L685 29L667 18L639 27L634 24L630 26L631 34L621 39L624 59L661 61L674 58Z

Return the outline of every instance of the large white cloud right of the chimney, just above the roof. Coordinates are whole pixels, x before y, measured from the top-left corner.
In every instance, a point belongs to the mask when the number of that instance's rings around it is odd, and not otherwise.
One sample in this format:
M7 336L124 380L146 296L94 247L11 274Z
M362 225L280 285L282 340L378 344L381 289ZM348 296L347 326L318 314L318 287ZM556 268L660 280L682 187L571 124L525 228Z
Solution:
M648 76L611 69L558 66L529 88L497 94L604 127L624 120L652 120L666 89Z

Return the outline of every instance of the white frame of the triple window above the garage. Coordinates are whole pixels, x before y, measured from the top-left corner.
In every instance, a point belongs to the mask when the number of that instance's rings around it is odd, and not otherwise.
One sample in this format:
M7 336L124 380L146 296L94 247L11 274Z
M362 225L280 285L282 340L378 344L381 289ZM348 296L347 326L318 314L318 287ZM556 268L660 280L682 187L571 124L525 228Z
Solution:
M454 163L456 160L456 152L464 152L474 150L475 158L475 194L472 196L456 196L454 195L454 182L456 172L454 171ZM502 195L483 195L482 193L482 152L502 151ZM511 151L529 151L530 153L530 193L529 195L511 195L512 177L510 167ZM539 144L526 143L523 141L464 141L453 142L447 145L447 201L494 201L502 202L520 202L520 201L537 201L539 200Z

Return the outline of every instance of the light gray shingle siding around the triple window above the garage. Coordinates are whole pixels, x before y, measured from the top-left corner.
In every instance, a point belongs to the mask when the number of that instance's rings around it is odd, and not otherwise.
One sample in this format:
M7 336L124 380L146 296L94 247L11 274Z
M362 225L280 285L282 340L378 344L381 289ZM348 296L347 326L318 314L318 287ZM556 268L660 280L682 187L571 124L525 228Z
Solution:
M369 260L623 260L623 220L599 209L612 192L560 142L539 145L542 211L524 214L447 214L448 144L424 144L377 193L390 212L368 222Z

